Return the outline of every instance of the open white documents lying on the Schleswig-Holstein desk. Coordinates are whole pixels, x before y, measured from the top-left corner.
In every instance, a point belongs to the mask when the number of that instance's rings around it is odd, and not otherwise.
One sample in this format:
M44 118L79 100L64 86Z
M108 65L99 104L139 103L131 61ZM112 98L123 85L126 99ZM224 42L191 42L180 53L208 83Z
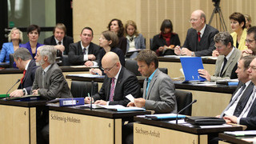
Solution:
M85 104L82 106L79 106L82 108L90 108L90 104ZM97 104L92 104L93 109L108 109L108 110L114 110L114 111L145 111L144 108L140 107L125 107L121 105L97 105Z

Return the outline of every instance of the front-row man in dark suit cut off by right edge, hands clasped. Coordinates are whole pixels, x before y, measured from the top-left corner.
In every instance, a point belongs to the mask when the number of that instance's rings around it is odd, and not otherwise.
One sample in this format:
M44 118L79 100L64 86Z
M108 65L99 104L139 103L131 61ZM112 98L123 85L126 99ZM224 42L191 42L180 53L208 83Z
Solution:
M251 56L254 57L254 56ZM239 61L240 62L240 61ZM242 97L240 98L236 109L234 110L234 115L226 114L223 118L227 123L238 123L241 125L247 126L246 130L256 130L256 58L254 57L253 61L250 62L250 66L248 67L247 74L249 74L249 79L253 82L254 86L250 86L250 91L246 90L243 92ZM238 76L239 78L239 76ZM248 86L249 88L249 86ZM248 89L247 88L247 89ZM245 96L244 96L245 95ZM244 97L244 98L243 98ZM238 113L236 113L236 110ZM222 115L221 115L222 116Z

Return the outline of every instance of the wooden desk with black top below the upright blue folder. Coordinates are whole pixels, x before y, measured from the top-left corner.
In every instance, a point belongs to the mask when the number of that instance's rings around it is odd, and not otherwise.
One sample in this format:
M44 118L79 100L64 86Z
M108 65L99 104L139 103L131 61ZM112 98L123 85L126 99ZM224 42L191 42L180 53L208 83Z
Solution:
M192 106L192 116L210 116L222 114L222 110L230 103L230 98L237 86L194 86L186 83L176 83L175 88L192 93L198 102Z

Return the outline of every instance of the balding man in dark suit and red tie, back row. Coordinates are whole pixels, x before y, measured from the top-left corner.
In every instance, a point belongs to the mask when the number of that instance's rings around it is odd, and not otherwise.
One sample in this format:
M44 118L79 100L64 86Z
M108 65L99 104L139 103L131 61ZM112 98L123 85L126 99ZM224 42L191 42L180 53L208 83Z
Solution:
M182 48L176 46L177 55L206 56L211 55L214 47L214 35L218 30L206 25L206 14L202 10L195 10L190 17L192 28L187 31L186 40Z

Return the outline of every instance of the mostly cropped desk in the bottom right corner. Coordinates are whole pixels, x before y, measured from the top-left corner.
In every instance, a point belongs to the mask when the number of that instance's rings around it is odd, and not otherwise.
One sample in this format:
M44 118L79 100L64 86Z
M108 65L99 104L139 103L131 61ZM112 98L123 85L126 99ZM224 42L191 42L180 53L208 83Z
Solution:
M219 144L227 144L227 143L234 143L234 144L252 144L256 142L255 136L246 136L246 137L234 137L228 134L218 134L218 138L222 138L223 141L218 142ZM254 138L254 142L247 142L242 138Z

